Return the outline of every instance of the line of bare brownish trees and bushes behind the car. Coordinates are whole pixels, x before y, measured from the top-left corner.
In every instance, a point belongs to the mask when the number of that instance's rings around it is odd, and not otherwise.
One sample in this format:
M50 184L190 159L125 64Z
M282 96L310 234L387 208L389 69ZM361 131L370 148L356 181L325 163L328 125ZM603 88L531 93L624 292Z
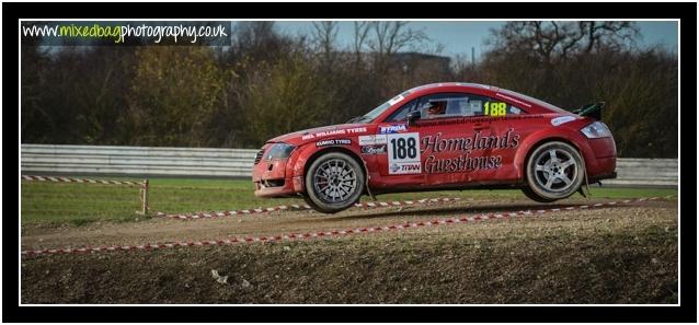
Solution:
M406 22L335 22L285 35L233 26L232 44L21 49L23 143L259 148L363 115L406 89L492 84L565 109L604 101L620 156L677 156L677 57L629 22L509 22L478 61L451 61Z

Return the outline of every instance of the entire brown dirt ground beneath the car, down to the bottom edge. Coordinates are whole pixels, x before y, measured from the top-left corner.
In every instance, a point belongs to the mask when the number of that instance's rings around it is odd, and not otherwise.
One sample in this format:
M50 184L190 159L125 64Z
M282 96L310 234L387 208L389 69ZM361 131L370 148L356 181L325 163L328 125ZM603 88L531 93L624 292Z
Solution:
M580 204L588 202L547 208ZM22 249L278 235L540 207L462 200L332 216L23 227ZM25 257L21 272L23 303L676 303L677 201L302 242Z

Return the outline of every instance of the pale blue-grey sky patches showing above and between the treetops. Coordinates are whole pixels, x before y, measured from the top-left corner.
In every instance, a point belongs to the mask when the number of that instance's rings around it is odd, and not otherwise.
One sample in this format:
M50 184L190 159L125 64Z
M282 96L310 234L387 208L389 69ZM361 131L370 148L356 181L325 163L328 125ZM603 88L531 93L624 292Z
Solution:
M491 28L497 28L505 22L421 22L413 21L410 26L422 30L435 42L445 46L443 55L470 56L471 47L475 48L475 56L480 56L483 40L490 36ZM276 22L280 32L296 35L310 34L312 22ZM677 53L677 22L637 22L641 30L640 45L662 45L673 53ZM353 39L353 22L339 22L337 42L341 46L348 46Z

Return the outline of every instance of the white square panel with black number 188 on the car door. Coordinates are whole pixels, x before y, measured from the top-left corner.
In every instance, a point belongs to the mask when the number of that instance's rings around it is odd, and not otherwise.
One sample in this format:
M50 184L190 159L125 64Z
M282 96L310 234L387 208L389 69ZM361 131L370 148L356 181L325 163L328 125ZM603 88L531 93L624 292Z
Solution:
M390 134L388 141L388 173L420 174L420 134Z

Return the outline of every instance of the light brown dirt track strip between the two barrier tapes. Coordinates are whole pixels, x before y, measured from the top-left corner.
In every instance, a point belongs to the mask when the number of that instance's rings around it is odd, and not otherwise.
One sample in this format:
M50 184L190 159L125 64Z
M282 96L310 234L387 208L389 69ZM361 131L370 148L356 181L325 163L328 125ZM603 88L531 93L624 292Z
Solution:
M350 209L336 214L323 214L312 210L303 210L239 214L236 217L196 220L153 217L140 222L96 222L84 227L23 227L22 249L135 245L259 235L268 236L429 221L474 213L536 210L542 207L574 207L584 204L588 202L571 200L570 202L563 204L538 205L530 200L511 200L496 204L466 200L403 208ZM664 204L658 201L645 201L635 202L629 205L629 207L662 205Z

